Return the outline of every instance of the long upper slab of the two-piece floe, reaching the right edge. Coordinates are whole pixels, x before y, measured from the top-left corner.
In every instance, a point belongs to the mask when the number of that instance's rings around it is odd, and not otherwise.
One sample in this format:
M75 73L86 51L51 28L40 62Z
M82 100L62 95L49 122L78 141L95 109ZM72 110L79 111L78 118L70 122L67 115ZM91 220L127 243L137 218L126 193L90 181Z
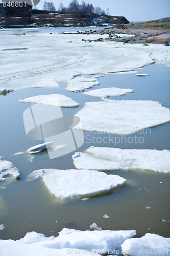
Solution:
M121 150L91 146L86 152L100 160L120 163L124 168L170 173L170 151L168 150Z

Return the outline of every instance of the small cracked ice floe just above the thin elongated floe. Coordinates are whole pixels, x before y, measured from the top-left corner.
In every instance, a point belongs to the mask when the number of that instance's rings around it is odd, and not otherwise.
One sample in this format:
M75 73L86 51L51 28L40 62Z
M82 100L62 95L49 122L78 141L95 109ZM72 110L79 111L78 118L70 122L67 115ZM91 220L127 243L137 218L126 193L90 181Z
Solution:
M68 81L67 90L71 92L83 92L85 89L98 86L99 80L92 77L79 76Z

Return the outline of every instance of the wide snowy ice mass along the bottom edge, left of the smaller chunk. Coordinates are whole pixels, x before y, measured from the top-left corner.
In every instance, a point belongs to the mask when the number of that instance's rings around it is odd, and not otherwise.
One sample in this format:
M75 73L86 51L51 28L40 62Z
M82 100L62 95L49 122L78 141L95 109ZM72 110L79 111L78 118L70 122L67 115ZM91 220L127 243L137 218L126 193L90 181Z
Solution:
M76 230L63 228L58 237L45 237L35 231L29 232L17 241L0 240L2 255L57 255L89 254L99 255L121 252L121 244L136 235L135 230ZM113 251L113 252L112 252ZM117 252L118 253L117 253ZM114 253L114 254L115 254Z

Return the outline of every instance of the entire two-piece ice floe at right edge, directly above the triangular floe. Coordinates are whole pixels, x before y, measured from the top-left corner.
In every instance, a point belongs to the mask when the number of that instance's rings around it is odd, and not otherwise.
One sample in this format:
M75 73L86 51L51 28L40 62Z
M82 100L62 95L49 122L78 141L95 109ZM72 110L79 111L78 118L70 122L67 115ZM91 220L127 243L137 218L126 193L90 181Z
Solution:
M157 173L170 173L170 151L168 150L122 150L91 146L86 153L75 153L73 160L79 169L91 169L92 167L93 169L110 170L112 166L115 166L113 169L141 169Z

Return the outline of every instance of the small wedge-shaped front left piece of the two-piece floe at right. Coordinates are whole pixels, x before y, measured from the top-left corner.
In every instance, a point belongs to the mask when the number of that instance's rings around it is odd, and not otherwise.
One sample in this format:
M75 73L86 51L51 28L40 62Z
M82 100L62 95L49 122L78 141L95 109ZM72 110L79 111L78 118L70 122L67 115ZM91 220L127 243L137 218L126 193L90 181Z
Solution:
M119 170L124 169L123 164L118 163L117 161L108 161L99 157L91 156L86 153L75 153L72 156L74 165L77 169L88 169L88 170Z

